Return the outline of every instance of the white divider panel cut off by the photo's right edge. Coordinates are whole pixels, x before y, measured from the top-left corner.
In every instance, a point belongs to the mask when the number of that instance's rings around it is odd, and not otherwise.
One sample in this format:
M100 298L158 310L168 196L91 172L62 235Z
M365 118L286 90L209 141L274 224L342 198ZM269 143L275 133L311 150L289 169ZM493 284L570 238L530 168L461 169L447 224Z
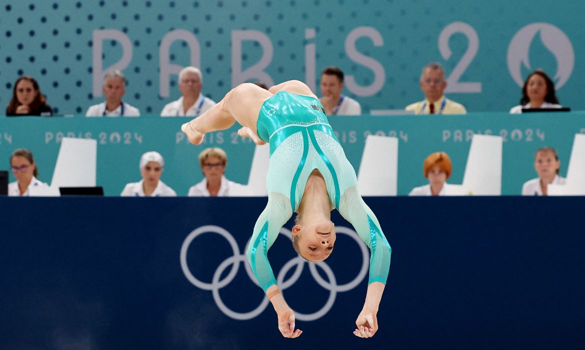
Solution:
M577 133L569 159L566 184L549 184L549 195L585 195L585 135Z

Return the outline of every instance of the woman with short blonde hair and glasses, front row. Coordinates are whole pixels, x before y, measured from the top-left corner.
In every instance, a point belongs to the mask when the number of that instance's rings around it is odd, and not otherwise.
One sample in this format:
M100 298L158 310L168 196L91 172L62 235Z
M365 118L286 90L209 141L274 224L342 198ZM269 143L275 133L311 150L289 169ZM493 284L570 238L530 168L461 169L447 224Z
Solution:
M218 147L209 147L199 153L199 166L205 178L189 188L189 197L228 197L241 194L243 186L226 179L228 155Z

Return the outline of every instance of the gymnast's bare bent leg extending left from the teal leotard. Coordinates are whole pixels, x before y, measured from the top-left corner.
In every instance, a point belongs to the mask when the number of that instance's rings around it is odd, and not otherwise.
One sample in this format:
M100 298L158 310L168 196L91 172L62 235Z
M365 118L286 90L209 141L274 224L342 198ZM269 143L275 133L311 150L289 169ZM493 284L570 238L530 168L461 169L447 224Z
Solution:
M194 145L203 142L206 133L230 128L236 121L249 128L256 136L258 114L264 101L273 94L258 87L245 83L233 88L218 104L204 114L181 126L181 130ZM257 137L257 136L256 136Z

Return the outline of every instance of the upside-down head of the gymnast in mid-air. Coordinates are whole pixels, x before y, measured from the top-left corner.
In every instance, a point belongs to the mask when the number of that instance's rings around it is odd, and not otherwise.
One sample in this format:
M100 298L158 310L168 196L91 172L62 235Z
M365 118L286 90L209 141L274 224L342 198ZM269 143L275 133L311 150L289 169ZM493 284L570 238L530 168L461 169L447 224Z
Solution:
M298 253L312 262L325 260L333 252L335 245L335 225L331 220L304 223L292 228L296 236Z

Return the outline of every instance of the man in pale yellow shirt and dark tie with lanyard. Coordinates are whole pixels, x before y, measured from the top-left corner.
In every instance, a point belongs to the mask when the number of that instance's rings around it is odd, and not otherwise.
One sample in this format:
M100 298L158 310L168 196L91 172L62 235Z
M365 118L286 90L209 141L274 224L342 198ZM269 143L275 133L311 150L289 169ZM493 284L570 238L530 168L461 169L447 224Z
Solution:
M408 105L405 109L414 114L466 114L463 105L451 101L443 95L447 87L445 71L441 64L431 62L422 68L421 81L422 92L425 100Z

